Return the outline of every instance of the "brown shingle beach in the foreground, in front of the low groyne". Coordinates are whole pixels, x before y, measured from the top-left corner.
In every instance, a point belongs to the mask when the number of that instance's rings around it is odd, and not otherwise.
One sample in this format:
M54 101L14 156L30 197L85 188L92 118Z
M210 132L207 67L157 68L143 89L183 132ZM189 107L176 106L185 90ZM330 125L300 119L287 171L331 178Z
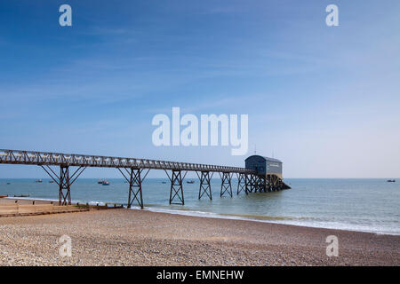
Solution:
M72 240L59 256L58 239ZM339 238L339 256L325 239ZM399 265L400 236L110 209L0 218L0 265Z

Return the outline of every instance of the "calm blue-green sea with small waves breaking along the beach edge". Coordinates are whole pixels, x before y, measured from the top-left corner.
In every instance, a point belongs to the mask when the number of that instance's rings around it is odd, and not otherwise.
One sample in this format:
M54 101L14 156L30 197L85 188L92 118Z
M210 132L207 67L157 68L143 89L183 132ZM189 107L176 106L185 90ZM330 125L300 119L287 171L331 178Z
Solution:
M73 201L127 203L128 185L123 179L79 178L72 186ZM162 184L166 181L166 184ZM7 185L7 182L10 185ZM400 235L400 180L386 179L285 179L292 189L277 193L250 193L220 198L220 179L212 180L210 201L198 200L199 182L184 184L185 206L169 205L167 179L153 178L143 184L146 209L206 217L255 219L292 225L307 225ZM49 179L0 179L0 195L30 194L30 198L58 199L58 185Z

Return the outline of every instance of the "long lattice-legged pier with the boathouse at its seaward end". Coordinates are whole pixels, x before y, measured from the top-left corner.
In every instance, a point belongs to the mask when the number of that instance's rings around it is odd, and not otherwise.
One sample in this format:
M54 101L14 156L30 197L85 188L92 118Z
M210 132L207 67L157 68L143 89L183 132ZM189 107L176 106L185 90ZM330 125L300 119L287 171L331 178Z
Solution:
M277 171L270 171L268 170L268 164L262 166L262 162L277 164L279 161L276 159L269 161L268 159L270 158L260 157L264 159L262 160L259 157L251 156L247 158L246 167L239 168L87 154L0 150L0 164L23 164L41 167L59 185L59 205L71 204L71 185L75 183L76 179L86 168L115 168L119 170L129 184L128 208L131 208L133 202L136 202L141 209L143 209L142 183L147 177L149 170L164 170L170 179L170 204L185 204L183 180L188 171L195 171L199 178L199 199L207 196L212 200L211 179L212 175L216 172L221 178L220 197L226 194L233 197L232 177L234 175L236 175L238 181L236 194L241 192L246 194L255 192L266 193L290 188L283 181L282 162L280 162L280 171L279 169ZM59 167L60 169L53 170L52 168L54 167Z

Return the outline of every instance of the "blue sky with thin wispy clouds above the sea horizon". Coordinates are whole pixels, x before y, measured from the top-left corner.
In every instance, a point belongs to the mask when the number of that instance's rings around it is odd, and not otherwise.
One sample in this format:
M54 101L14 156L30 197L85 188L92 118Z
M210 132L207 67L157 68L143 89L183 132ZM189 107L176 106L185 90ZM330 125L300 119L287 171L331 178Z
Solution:
M249 114L249 154L274 154L285 177L400 177L399 13L388 0L2 1L0 148L244 166L230 146L153 146L152 117L180 106ZM119 177L84 173L103 176Z

